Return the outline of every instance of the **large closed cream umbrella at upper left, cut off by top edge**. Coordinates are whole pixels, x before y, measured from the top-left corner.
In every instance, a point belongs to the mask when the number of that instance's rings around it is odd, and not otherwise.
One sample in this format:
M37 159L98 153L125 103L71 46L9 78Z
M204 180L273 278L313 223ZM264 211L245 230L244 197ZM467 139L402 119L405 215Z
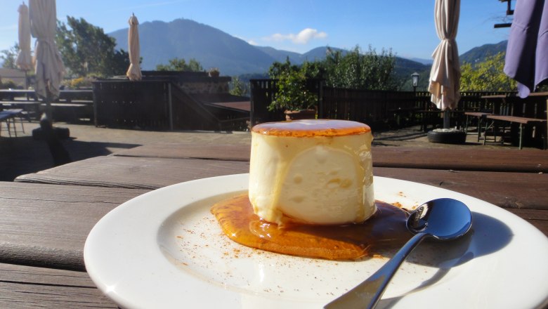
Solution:
M35 90L38 96L46 98L46 103L49 105L51 100L59 97L59 85L65 72L63 60L55 42L56 1L30 0L29 5L30 32L32 37L37 39L34 46Z

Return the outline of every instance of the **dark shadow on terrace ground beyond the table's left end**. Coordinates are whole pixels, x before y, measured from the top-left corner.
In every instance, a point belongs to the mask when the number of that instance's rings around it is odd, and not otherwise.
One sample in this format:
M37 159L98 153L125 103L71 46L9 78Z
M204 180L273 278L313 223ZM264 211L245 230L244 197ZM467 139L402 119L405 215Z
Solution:
M140 146L126 143L85 142L70 138L62 140L72 162L110 155L117 150ZM0 138L0 181L13 181L17 176L36 173L54 166L51 151L44 140L30 136Z

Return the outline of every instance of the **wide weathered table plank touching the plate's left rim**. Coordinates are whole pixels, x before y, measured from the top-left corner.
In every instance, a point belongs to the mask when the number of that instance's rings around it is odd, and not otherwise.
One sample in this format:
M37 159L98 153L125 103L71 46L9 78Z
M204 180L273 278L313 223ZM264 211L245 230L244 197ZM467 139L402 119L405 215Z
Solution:
M0 262L84 270L93 225L145 192L0 182Z

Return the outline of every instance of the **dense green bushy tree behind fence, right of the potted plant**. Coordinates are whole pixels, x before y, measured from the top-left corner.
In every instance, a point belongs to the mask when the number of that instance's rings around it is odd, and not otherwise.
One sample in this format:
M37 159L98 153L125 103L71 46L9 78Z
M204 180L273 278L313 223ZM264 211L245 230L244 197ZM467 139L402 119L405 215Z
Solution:
M326 85L363 90L396 90L396 56L391 51L362 53L359 46L344 54L329 50L324 60Z

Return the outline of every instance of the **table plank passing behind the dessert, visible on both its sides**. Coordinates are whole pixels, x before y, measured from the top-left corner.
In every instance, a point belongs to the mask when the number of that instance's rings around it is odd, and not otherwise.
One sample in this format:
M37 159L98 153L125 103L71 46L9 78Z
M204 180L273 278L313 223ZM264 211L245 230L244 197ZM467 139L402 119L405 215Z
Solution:
M247 162L107 156L65 164L15 180L155 189L197 178L248 171ZM504 208L548 209L548 176L544 173L374 167L374 174L454 190Z

